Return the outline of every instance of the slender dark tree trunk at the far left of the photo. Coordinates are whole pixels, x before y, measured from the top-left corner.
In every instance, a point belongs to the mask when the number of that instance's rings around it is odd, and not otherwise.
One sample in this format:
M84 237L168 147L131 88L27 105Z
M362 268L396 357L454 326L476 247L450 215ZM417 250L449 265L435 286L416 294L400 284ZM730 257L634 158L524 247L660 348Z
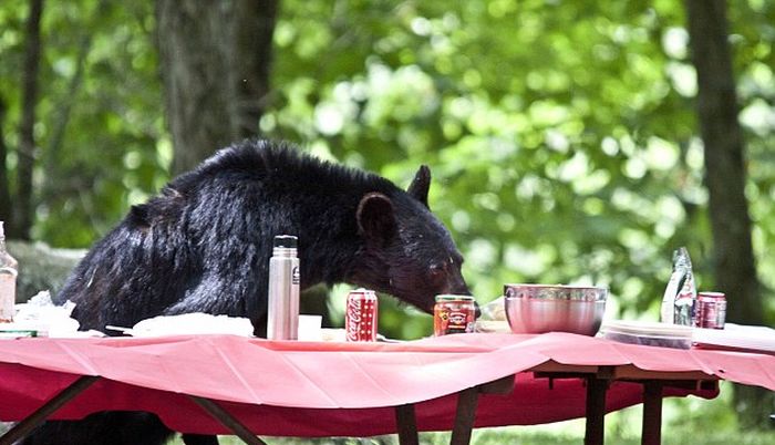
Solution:
M24 71L21 123L19 125L19 164L17 168L17 199L14 209L14 232L18 238L30 239L32 227L32 169L35 164L35 104L38 102L38 71L40 65L40 17L43 0L30 0L30 15L27 19L27 46L24 49Z

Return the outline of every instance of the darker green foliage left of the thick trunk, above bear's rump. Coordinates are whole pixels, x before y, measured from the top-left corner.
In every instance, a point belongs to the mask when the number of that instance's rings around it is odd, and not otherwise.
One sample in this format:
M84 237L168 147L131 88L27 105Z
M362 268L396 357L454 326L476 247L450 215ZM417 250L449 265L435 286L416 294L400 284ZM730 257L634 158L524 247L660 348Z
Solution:
M17 145L25 13L25 1L0 7L0 94L10 105L2 123L10 147ZM89 247L128 205L166 182L153 24L151 2L45 3L34 238ZM13 172L14 153L8 164Z

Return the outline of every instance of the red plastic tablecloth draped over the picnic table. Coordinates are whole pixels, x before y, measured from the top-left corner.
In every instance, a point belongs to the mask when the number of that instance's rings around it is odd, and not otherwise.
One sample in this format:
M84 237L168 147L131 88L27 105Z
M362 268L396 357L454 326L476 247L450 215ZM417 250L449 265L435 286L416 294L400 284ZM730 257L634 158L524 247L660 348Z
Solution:
M585 414L580 380L521 373L554 360L701 371L775 390L775 356L671 350L602 339L464 334L406 343L272 342L231 335L0 341L0 420L29 415L80 375L97 383L53 418L104 410L157 413L173 430L227 434L186 395L219 401L259 435L370 436L395 432L391 406L416 403L420 431L450 430L458 391L518 374L507 396L485 395L476 426L556 422ZM669 390L668 395L690 392ZM693 394L712 397L713 392ZM638 404L641 386L616 382L607 410Z

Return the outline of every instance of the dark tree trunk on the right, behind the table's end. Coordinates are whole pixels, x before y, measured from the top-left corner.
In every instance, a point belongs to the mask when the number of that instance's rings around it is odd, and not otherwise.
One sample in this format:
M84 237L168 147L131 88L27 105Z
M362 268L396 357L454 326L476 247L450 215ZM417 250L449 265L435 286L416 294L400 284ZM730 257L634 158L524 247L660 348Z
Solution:
M727 43L726 2L686 0L686 10L698 72L696 106L705 147L715 284L726 293L730 321L762 324L764 307L745 198L744 143ZM735 404L741 425L767 425L771 397L763 390L736 386Z

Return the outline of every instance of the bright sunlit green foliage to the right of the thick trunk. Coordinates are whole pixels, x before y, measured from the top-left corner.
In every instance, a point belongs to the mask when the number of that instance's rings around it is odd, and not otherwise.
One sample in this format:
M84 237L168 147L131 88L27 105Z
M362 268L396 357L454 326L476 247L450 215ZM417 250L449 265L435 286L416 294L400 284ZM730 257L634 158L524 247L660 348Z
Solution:
M731 11L771 318L774 9ZM657 319L675 248L714 286L684 19L666 1L286 1L261 128L402 185L428 164L480 301L596 283L610 315Z

